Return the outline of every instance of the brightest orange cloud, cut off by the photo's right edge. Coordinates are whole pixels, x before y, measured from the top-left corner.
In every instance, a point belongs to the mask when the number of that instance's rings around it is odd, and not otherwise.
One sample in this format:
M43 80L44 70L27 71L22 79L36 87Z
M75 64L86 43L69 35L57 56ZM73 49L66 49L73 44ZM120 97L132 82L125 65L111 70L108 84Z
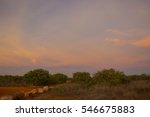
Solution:
M150 47L150 37L136 40L133 42L133 45L138 46L138 47Z

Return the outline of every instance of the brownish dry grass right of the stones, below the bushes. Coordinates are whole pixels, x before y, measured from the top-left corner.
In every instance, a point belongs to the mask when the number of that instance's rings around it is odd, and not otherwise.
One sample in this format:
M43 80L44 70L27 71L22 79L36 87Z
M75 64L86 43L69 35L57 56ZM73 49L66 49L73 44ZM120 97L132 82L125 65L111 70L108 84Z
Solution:
M81 99L81 100L137 100L150 99L150 81L132 81L129 84L117 86L94 85L84 87L79 84L63 84L50 89L47 93L32 99Z

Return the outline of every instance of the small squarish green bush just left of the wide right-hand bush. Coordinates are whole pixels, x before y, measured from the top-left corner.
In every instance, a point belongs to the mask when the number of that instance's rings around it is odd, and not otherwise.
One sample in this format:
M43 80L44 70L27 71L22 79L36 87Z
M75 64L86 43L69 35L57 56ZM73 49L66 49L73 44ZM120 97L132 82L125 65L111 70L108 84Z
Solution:
M76 72L73 73L73 82L75 83L88 83L91 79L88 72Z

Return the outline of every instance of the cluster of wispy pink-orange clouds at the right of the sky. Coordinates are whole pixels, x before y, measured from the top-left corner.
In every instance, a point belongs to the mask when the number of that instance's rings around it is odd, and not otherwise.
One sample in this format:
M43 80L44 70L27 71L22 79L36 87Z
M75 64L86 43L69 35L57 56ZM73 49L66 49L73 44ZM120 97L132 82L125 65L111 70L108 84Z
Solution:
M130 29L124 32L119 29L107 29L105 30L105 32L108 32L108 38L106 38L105 40L113 45L150 47L150 37L148 31Z

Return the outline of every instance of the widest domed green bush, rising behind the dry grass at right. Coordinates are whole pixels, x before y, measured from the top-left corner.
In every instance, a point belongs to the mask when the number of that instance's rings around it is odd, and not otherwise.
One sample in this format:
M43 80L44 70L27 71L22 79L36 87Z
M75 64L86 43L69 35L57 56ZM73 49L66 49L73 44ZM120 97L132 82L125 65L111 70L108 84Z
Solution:
M114 69L104 69L98 71L93 76L95 83L110 83L110 84L119 84L119 83L128 83L129 81L126 78L126 75L123 72L116 71Z

